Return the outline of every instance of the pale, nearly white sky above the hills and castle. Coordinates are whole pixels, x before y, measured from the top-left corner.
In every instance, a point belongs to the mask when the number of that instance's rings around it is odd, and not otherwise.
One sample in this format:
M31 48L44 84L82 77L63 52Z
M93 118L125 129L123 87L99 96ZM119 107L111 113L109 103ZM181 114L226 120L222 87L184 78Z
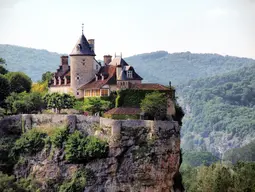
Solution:
M82 23L97 59L158 50L255 59L255 0L0 0L0 44L70 54Z

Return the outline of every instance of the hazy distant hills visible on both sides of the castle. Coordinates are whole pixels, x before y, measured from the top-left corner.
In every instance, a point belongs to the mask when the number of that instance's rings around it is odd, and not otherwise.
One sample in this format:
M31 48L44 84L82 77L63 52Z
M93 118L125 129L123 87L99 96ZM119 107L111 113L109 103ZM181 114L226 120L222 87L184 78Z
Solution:
M54 72L60 64L61 55L46 50L0 44L0 57L6 60L7 68L11 71L23 71L33 81L39 80L46 71ZM252 59L218 54L169 54L165 51L144 53L125 59L135 67L145 82L168 84L172 81L173 85L223 74L255 63Z

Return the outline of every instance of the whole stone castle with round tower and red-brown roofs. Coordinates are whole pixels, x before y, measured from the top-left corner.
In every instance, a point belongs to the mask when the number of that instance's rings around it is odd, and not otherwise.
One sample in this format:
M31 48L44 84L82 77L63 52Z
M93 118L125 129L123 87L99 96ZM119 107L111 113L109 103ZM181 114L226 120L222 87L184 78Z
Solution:
M121 56L105 55L103 64L95 59L95 40L82 34L70 54L61 57L49 92L71 93L76 98L109 96L120 89L168 91L156 83L142 83L143 78Z

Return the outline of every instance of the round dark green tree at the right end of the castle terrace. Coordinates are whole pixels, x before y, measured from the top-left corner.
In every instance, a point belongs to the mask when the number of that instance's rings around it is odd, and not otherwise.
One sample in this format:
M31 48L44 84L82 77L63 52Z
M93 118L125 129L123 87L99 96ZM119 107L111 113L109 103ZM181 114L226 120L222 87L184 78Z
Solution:
M154 119L164 119L167 113L167 97L164 93L149 93L142 100L141 109Z

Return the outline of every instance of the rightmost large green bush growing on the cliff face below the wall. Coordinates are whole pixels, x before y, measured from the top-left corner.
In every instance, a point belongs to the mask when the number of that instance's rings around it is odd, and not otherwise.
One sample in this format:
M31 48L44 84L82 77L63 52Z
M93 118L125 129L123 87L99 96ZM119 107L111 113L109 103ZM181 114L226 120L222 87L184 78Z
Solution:
M68 137L65 154L70 162L86 163L105 157L108 154L108 144L94 136L84 137L81 132L75 131Z

